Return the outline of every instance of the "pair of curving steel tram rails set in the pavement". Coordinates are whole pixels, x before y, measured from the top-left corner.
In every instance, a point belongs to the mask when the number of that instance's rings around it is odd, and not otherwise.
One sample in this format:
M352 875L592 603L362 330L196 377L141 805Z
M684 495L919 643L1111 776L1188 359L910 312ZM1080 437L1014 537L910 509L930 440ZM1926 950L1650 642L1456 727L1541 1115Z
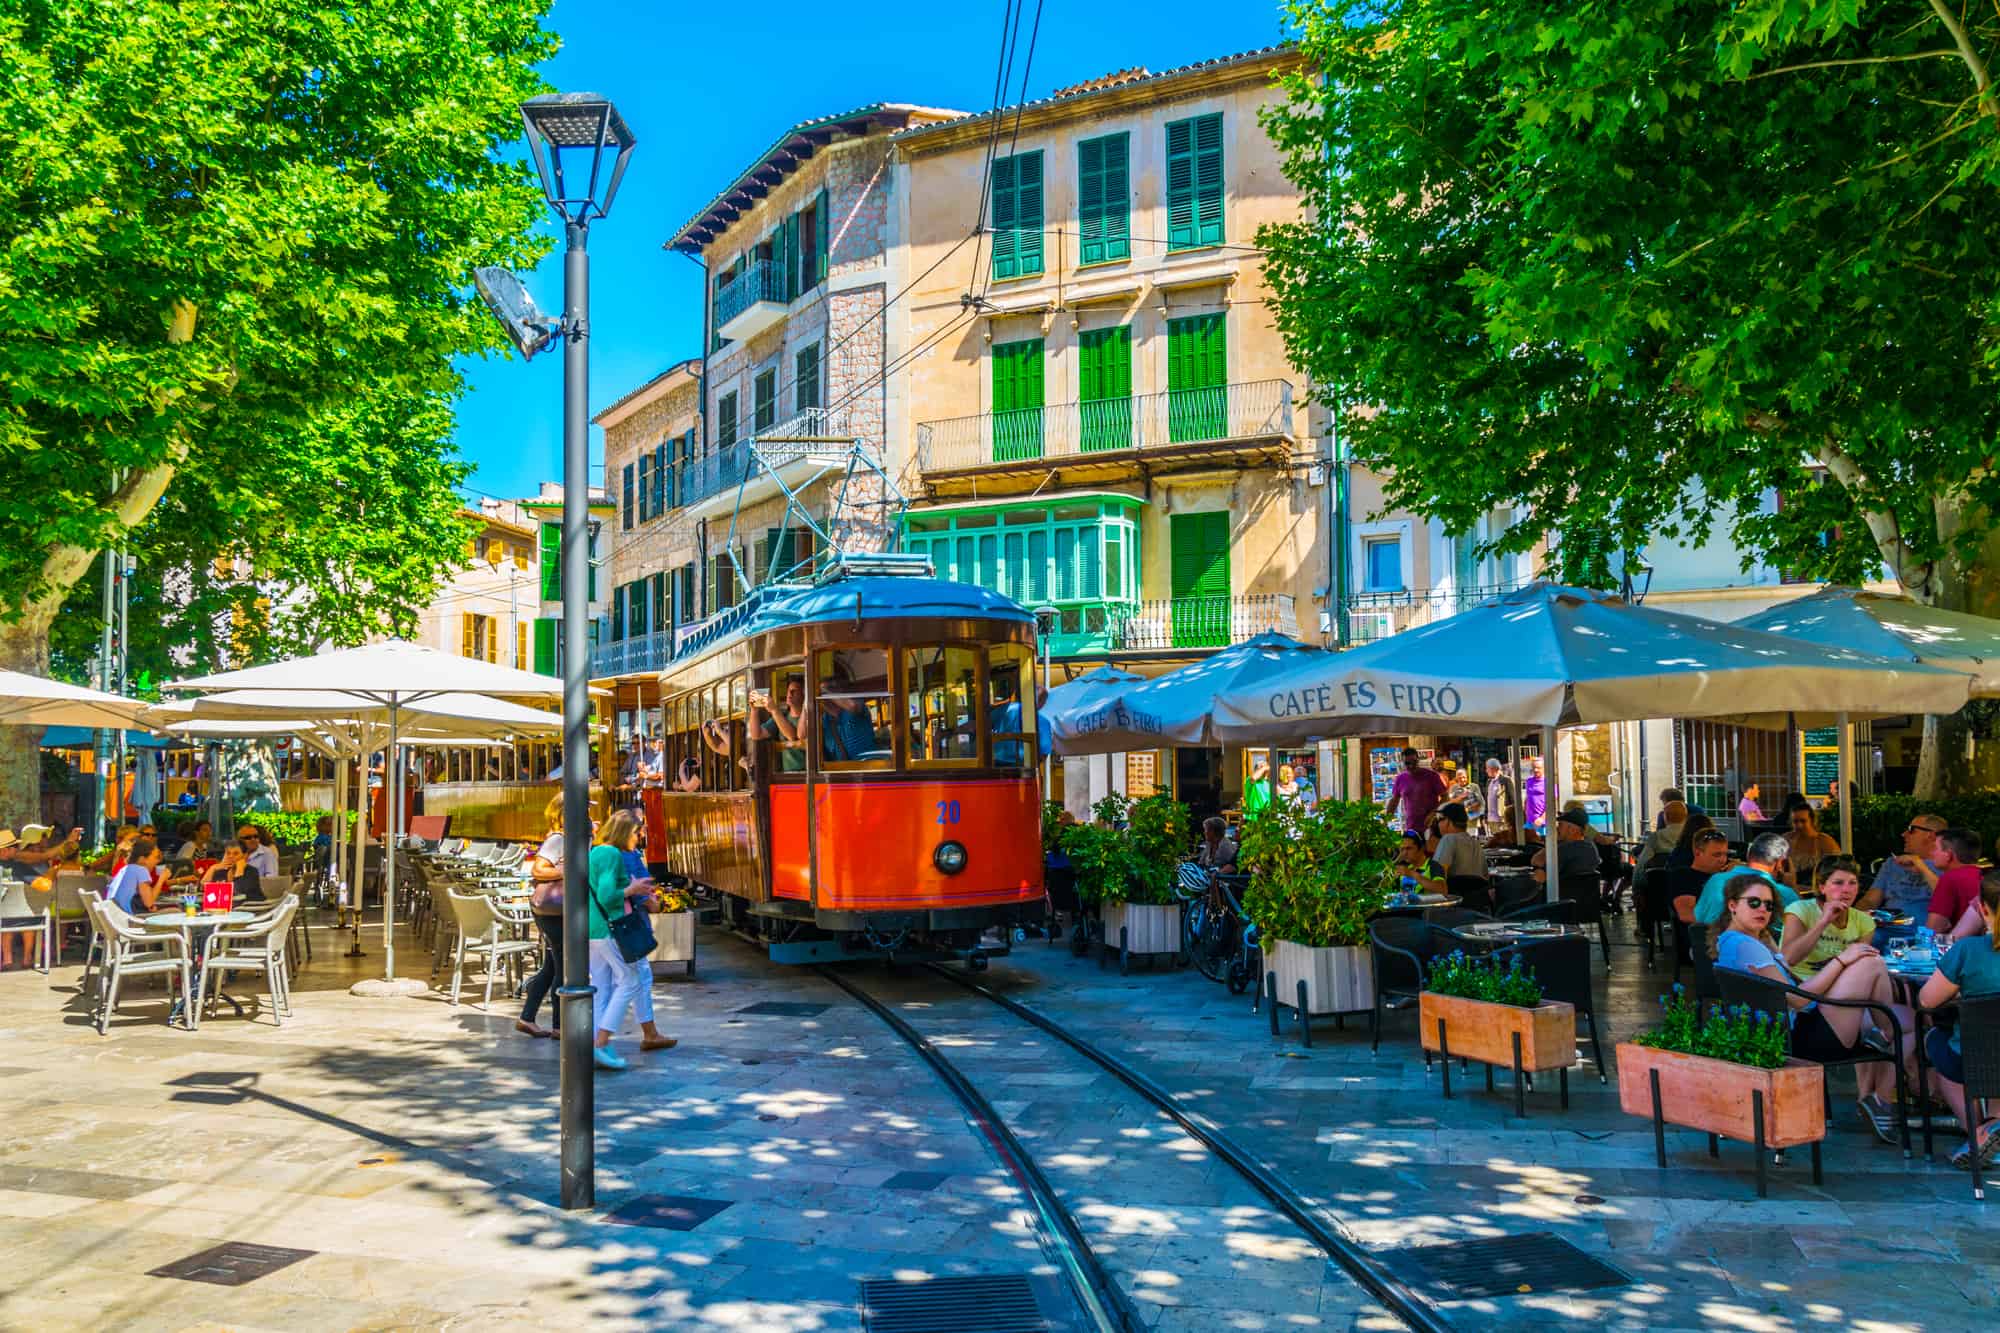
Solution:
M1092 1065L1110 1073L1124 1087L1146 1101L1154 1111L1166 1115L1174 1121L1188 1137L1208 1149L1216 1159L1226 1163L1238 1177L1242 1177L1258 1195L1262 1195L1278 1215L1282 1215L1298 1233L1318 1247L1330 1261L1334 1261L1362 1291L1366 1291L1374 1301L1378 1301L1386 1311L1400 1319L1414 1333L1452 1333L1452 1323L1444 1319L1422 1293L1412 1289L1400 1277L1396 1277L1374 1253L1360 1245L1354 1237L1346 1235L1340 1223L1328 1217L1318 1205L1298 1193L1284 1177L1276 1175L1270 1167L1260 1163L1242 1145L1238 1145L1220 1125L1208 1117L1184 1107L1168 1089L1156 1083L1144 1071L1128 1065L1126 1061L1110 1055L1102 1047L1078 1037L1068 1027L1056 1019L1044 1015L1030 1005L1024 1005L1008 995L1000 995L990 987L960 975L954 969L940 967L936 963L924 965L936 977L950 981L954 987L970 991L972 995L990 1001L994 1007L1006 1011L1014 1019L1028 1023L1046 1037L1070 1047L1076 1055L1082 1055ZM910 1047L924 1057L932 1071L944 1081L944 1085L958 1097L960 1105L966 1109L972 1123L988 1139L1000 1157L1002 1165L1020 1181L1024 1195L1034 1203L1038 1217L1042 1219L1044 1245L1054 1253L1058 1265L1064 1271L1072 1291L1078 1297L1078 1305L1084 1315L1094 1321L1098 1329L1142 1329L1144 1319L1134 1311L1130 1297L1118 1287L1116 1279L1104 1269L1102 1261L1092 1253L1090 1243L1084 1239L1082 1229L1070 1215L1068 1207L1062 1203L1056 1189L1050 1185L1048 1177L1034 1163L1034 1157L1020 1145L1014 1133L1002 1123L1000 1115L994 1111L992 1103L972 1085L972 1081L960 1071L950 1057L936 1049L922 1033L918 1033L902 1015L894 1013L874 995L840 977L832 969L820 969L820 975L846 991L856 1003L874 1013L882 1023L902 1037Z

